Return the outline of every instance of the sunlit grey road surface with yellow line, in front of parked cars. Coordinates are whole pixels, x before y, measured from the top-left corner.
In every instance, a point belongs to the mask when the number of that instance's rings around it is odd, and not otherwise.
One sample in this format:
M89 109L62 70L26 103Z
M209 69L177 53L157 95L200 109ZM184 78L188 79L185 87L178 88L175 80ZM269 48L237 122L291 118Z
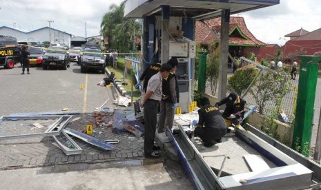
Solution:
M21 74L18 65L12 70L0 69L0 115L63 108L93 112L115 94L112 89L97 85L102 78L104 74L100 72L80 73L77 63L70 63L67 70L31 67L30 74ZM112 103L108 101L106 107L113 107Z

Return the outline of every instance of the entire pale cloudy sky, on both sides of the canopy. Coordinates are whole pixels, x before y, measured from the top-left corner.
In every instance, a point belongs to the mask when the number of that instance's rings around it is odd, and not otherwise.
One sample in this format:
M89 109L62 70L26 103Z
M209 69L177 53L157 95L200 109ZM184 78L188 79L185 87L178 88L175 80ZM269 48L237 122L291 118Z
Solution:
M72 34L99 35L102 17L121 0L0 0L0 26L36 30L48 26ZM280 0L277 6L232 16L244 17L249 30L264 43L284 45L284 35L303 28L321 28L321 1ZM281 38L281 39L280 39Z

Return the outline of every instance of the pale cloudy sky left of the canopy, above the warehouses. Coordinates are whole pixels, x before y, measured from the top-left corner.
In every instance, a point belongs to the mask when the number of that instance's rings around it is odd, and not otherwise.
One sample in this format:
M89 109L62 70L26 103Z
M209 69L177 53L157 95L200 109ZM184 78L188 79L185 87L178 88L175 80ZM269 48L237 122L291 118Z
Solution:
M109 7L119 5L120 0L3 0L0 1L0 18L3 25L13 26L21 30L35 30L48 26L48 20L54 21L51 27L68 32L75 36L84 36L85 22L87 36L95 36L100 32L101 19Z

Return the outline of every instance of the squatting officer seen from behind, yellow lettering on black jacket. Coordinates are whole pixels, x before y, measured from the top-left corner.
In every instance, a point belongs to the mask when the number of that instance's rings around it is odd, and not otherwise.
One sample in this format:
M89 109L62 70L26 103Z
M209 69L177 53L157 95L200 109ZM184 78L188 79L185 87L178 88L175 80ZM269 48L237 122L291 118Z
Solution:
M212 147L216 142L222 142L221 139L226 134L226 125L220 109L211 105L208 98L202 98L200 105L198 123L193 120L193 124L197 125L194 136L202 139L204 147Z

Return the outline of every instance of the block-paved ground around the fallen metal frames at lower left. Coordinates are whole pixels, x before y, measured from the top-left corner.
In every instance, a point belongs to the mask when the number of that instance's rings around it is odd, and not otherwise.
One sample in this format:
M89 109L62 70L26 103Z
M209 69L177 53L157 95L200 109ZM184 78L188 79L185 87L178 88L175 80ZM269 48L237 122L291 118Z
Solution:
M89 120L92 120L92 113L75 115L73 118L80 117L72 123L69 123L66 128L84 131ZM106 120L112 118L108 114ZM5 121L3 121L4 124ZM14 121L19 122L19 121ZM22 121L21 121L22 122ZM4 131L9 133L19 133L26 130L26 126L35 127L32 123L41 123L41 120L23 121L23 126L16 125L15 127L3 129L5 125L0 125L0 136L3 136ZM26 122L29 124L26 125ZM13 123L13 122L11 122ZM48 121L47 121L48 123ZM46 123L41 123L46 126ZM19 131L20 130L20 131ZM93 136L100 140L118 139L119 144L115 144L115 149L105 151L93 145L72 138L77 142L77 145L83 149L82 154L66 156L59 147L55 145L55 140L52 137L43 138L23 138L19 140L0 140L0 170L24 167L43 167L50 165L61 165L66 163L95 163L105 162L110 160L126 160L135 158L144 158L144 139L137 138L133 134L121 133L115 134L111 127L93 127Z

